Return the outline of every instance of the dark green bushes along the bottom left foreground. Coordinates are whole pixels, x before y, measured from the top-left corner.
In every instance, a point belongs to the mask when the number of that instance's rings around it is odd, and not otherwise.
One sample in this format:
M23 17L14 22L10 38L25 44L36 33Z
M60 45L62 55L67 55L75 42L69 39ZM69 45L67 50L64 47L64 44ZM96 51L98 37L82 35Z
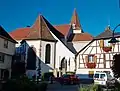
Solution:
M45 82L36 84L27 77L21 77L19 79L8 80L3 86L3 91L46 91L46 88L47 83Z

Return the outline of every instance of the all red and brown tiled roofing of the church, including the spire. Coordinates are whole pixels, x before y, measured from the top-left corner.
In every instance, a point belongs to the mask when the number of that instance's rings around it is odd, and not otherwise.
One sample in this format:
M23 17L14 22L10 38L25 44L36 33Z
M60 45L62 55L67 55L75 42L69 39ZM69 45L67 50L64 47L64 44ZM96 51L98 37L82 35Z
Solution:
M81 25L79 22L76 9L74 10L73 16L71 19L71 24L72 23L76 24L76 29L81 29ZM59 37L61 34L61 36L64 37L70 31L71 24L56 25L53 27L42 15L39 15L32 27L19 28L11 32L10 35L16 40L36 39L36 38L55 40L51 35L50 31L54 30L55 35L58 35ZM93 37L90 34L83 33L82 31L82 33L79 33L79 34L77 33L72 34L68 41L89 41L92 39Z

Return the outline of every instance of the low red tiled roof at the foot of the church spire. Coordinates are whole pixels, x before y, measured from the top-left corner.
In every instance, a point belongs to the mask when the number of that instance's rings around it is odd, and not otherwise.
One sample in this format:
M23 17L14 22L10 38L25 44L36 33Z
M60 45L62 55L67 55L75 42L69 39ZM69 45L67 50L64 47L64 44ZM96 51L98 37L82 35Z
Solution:
M91 41L93 37L88 33L73 34L69 37L70 41Z

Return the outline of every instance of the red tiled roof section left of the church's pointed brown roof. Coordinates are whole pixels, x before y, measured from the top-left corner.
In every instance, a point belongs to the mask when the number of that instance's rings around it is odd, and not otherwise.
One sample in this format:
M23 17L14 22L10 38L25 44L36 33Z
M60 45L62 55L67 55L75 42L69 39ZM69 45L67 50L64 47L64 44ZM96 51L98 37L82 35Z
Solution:
M29 33L31 31L31 28L18 28L12 32L10 32L9 34L11 35L12 38L16 39L16 40L22 40L25 39Z

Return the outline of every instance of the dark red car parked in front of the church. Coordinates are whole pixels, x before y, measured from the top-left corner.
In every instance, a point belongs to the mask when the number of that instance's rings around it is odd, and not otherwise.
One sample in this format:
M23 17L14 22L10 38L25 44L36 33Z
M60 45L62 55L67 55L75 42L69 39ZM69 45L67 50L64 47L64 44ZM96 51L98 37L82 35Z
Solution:
M61 84L79 84L79 78L76 75L64 74L59 78Z

